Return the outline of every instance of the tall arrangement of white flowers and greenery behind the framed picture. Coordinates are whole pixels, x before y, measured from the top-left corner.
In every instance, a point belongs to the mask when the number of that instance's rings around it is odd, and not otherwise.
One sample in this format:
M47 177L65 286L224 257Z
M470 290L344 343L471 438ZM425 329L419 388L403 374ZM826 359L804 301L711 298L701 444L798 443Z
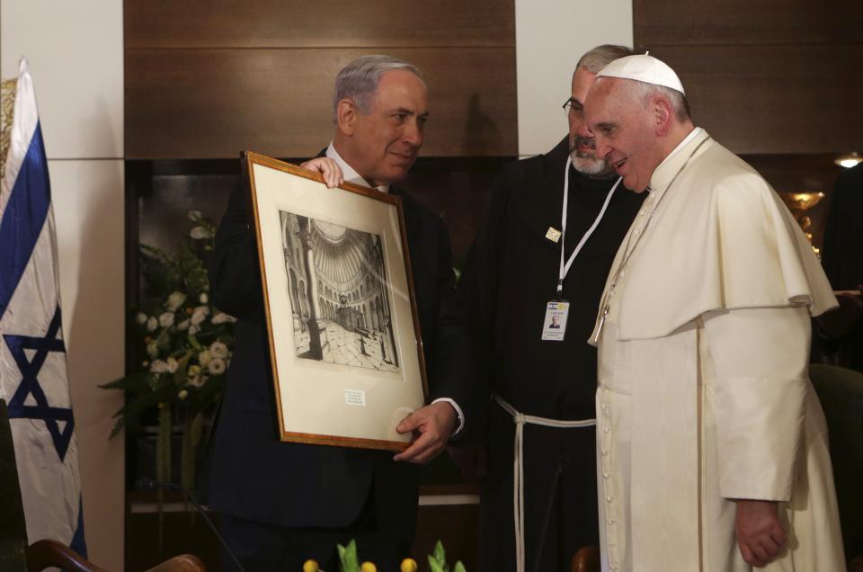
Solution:
M171 435L182 433L181 486L194 483L195 457L207 441L221 398L234 345L233 317L209 301L204 259L213 249L215 226L200 211L189 212L191 230L174 255L140 246L144 301L133 310L130 352L138 366L102 385L126 394L114 417L111 438L126 427L142 430L142 416L157 410L156 480L171 480Z

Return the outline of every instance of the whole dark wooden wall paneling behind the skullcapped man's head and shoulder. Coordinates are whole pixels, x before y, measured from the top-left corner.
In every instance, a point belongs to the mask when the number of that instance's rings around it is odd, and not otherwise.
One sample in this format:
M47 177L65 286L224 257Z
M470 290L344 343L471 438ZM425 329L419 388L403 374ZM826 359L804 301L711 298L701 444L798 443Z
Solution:
M693 118L778 192L822 191L863 151L863 11L853 0L633 0L635 44L681 76Z

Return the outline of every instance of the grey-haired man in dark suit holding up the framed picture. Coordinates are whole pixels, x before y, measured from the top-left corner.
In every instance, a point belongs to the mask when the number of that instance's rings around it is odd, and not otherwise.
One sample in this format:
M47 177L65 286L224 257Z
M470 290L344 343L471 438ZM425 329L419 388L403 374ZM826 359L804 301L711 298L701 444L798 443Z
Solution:
M423 145L428 117L419 71L386 56L359 58L336 77L334 139L303 166L329 186L376 187L402 200L432 403L397 429L414 433L395 457L387 451L280 442L262 314L261 278L245 190L232 193L209 269L214 304L238 318L225 399L210 450L209 506L247 570L299 570L316 559L337 568L335 545L351 538L360 559L397 570L416 521L417 463L431 460L463 423L467 344L450 303L455 277L440 218L394 183ZM230 559L223 559L226 567ZM227 568L233 569L233 568Z

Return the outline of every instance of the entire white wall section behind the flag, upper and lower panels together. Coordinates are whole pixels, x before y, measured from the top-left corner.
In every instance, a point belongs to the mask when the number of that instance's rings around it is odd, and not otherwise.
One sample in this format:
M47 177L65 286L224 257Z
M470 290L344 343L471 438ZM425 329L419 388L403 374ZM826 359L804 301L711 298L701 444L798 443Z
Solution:
M0 0L0 73L25 56L39 103L58 228L60 285L90 559L124 568L122 404L123 13L119 0Z

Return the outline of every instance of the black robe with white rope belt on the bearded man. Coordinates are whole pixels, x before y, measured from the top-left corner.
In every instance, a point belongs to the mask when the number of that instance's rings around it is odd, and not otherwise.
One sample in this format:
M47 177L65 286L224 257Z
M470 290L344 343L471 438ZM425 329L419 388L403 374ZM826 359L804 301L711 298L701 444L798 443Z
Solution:
M567 139L551 152L507 165L495 185L462 279L476 358L469 433L487 445L482 492L483 568L514 570L512 417L496 394L525 415L561 420L594 416L596 350L587 339L609 267L643 196L619 185L605 216L564 282L571 303L563 342L542 341L554 299ZM590 179L570 167L565 256L592 225L615 178ZM592 427L527 425L524 432L526 566L563 570L583 545L599 545ZM541 562L535 568L539 546Z

